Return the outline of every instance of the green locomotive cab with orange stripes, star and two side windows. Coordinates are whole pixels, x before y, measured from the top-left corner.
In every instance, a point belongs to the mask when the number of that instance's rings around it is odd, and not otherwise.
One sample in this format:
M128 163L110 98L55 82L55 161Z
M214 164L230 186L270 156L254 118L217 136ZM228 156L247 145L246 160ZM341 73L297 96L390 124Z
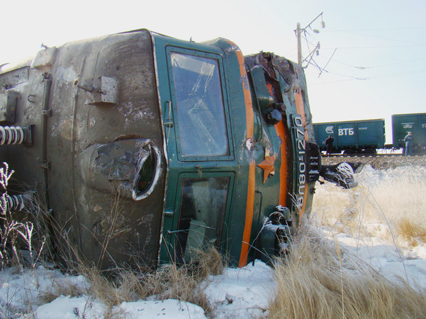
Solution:
M188 262L205 245L239 266L270 258L310 209L321 165L303 70L221 38L153 39L168 164L160 259ZM277 206L286 218L264 227Z

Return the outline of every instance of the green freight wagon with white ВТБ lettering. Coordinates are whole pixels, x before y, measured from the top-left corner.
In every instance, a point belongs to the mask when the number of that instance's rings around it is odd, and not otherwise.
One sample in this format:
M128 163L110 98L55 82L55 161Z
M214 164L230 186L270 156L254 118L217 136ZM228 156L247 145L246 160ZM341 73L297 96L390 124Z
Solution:
M316 143L326 150L325 139L333 137L333 152L343 154L376 154L385 145L385 121L361 120L314 124Z

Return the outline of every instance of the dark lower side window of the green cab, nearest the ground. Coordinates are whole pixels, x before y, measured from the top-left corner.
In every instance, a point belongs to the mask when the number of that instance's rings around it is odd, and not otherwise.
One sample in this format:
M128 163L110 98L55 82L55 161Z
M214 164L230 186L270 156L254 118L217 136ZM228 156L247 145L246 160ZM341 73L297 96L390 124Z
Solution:
M175 241L179 262L208 245L218 246L229 192L229 177L184 178Z

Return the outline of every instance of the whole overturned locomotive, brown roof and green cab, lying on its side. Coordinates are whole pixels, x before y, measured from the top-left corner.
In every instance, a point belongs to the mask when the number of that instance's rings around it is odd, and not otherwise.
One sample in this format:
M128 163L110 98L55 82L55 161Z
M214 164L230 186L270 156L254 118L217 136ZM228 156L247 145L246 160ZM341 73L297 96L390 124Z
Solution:
M44 48L2 66L0 90L10 191L38 191L101 268L205 245L245 266L279 251L320 174L353 182L321 165L303 69L223 38L140 29Z

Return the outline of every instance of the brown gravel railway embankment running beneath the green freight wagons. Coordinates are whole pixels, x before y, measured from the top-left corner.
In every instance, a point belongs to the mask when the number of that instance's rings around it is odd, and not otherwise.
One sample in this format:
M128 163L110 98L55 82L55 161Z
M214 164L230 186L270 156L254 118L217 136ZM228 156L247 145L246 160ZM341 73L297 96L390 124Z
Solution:
M362 162L374 169L392 169L400 166L425 166L426 156L330 156L323 157L323 164Z

